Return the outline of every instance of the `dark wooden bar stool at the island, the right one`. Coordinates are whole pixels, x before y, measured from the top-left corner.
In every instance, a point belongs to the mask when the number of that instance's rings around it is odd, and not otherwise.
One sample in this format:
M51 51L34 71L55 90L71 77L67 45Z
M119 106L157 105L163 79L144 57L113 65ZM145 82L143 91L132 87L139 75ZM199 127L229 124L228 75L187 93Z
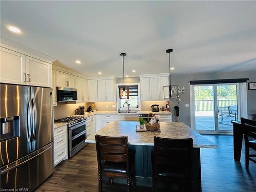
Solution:
M193 139L167 139L155 137L153 190L158 191L158 180L179 184L179 191L191 191L193 166Z

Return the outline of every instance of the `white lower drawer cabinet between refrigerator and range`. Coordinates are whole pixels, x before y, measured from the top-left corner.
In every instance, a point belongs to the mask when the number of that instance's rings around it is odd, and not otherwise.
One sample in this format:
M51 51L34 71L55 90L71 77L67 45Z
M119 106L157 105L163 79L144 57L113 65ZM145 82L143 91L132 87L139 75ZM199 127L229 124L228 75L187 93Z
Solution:
M54 166L68 159L68 128L67 125L54 129Z

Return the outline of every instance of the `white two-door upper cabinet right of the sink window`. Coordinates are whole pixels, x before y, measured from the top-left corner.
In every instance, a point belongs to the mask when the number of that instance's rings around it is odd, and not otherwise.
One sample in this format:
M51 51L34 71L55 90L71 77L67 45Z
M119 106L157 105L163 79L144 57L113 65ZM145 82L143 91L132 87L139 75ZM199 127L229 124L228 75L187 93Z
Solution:
M163 86L168 86L168 74L140 76L141 100L165 100Z

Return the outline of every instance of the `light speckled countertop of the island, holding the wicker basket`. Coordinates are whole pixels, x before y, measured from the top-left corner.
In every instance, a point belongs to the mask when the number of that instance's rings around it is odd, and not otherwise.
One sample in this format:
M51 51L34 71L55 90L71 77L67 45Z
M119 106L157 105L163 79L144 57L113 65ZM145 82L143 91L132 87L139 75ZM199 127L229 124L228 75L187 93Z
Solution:
M128 143L131 145L154 145L154 136L163 138L193 138L193 147L217 148L217 145L206 139L184 123L160 122L161 132L136 132L135 121L112 121L102 127L98 132L86 139L87 143L95 143L95 135L103 136L128 136Z

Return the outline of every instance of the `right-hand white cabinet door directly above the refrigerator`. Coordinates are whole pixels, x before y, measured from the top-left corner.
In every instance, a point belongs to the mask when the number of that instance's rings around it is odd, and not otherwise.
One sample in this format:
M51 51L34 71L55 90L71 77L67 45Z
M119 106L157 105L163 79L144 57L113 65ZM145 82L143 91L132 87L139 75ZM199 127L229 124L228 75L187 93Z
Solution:
M51 87L52 65L26 56L27 84L30 86Z

